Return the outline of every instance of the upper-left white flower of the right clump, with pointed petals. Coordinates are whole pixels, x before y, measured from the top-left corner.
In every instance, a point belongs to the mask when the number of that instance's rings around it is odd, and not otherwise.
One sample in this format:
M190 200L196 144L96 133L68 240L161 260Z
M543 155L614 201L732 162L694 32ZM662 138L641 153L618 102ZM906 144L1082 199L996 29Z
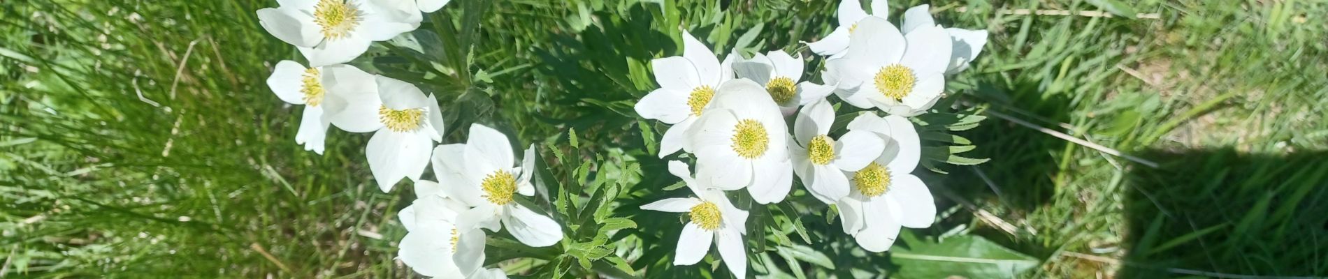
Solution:
M643 97L635 108L643 118L672 124L660 139L660 157L679 149L692 152L692 147L687 145L685 132L710 106L720 83L733 78L734 57L730 54L720 63L705 44L684 30L683 56L651 61L655 82L660 83L660 89Z

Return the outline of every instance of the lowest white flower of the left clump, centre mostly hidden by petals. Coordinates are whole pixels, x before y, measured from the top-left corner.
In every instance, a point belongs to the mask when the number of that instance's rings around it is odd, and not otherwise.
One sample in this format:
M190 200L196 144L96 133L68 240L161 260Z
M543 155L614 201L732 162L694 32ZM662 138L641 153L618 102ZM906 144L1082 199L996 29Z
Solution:
M398 213L408 233L398 245L397 258L430 278L465 278L482 272L485 231L458 227L457 214L467 208L440 196L440 190L437 182L416 182L418 198Z

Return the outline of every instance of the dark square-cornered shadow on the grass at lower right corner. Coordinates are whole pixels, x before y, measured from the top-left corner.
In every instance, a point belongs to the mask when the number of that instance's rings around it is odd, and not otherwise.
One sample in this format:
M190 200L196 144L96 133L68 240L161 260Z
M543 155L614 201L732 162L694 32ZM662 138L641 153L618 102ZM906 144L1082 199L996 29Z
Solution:
M1328 275L1328 152L1142 155L1117 278Z

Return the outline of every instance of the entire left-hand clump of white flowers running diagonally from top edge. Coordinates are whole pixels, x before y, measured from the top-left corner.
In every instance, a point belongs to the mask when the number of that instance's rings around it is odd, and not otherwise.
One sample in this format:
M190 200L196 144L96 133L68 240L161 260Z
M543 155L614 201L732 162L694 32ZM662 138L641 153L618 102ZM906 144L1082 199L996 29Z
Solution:
M438 100L418 86L365 73L351 65L374 41L420 26L421 13L449 0L282 0L258 11L274 37L296 46L309 67L280 61L267 79L283 102L304 104L295 136L304 149L324 151L327 130L373 132L365 159L374 182L389 192L402 179L417 198L398 213L406 229L397 259L432 278L506 278L485 268L486 233L507 231L535 247L563 239L552 218L515 202L531 196L534 149L515 165L507 136L482 124L470 127L465 144L444 144ZM716 70L717 71L717 70ZM433 161L438 181L421 180Z

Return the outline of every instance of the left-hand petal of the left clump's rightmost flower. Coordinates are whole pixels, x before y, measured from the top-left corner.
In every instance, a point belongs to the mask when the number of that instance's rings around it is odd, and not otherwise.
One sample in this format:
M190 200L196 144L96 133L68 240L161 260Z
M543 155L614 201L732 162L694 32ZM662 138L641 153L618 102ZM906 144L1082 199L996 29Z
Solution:
M438 177L441 194L471 206L487 204L481 196L478 181L465 176L465 144L454 143L433 149L433 175Z

